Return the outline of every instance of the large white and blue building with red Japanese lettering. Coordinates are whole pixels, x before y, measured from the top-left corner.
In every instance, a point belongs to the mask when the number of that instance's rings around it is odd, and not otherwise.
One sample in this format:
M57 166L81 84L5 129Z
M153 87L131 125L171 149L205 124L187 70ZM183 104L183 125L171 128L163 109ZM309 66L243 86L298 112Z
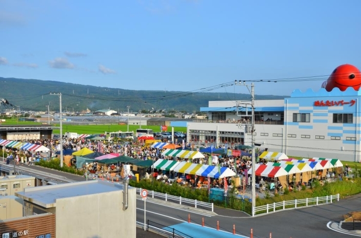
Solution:
M361 162L360 100L361 92L353 88L295 90L284 100L255 100L255 143L289 157ZM208 112L209 122L187 124L188 143L251 145L250 102L208 104L201 111Z

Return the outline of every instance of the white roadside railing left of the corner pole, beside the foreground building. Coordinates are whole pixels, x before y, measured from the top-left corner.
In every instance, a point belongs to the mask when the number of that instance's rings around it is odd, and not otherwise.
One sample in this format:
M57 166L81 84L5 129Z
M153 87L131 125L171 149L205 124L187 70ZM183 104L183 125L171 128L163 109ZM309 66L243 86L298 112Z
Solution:
M141 190L142 190L142 188L137 187L138 194L140 194ZM173 196L173 195L169 195L166 193L159 193L159 192L155 192L155 191L148 191L148 197L161 199L163 201L177 202L179 204L184 203L187 205L194 205L195 208L197 208L197 207L210 208L211 211L213 212L213 203L209 203L209 202L205 202L205 201L197 201L197 200L193 200L193 199L182 198L182 197Z

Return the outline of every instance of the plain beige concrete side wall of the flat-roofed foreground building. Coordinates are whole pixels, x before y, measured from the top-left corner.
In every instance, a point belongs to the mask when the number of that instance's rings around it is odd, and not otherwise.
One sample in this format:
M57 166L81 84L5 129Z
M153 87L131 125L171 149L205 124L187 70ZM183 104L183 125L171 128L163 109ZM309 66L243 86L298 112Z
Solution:
M57 199L56 237L136 238L136 189L129 187L128 191L125 211L123 190Z

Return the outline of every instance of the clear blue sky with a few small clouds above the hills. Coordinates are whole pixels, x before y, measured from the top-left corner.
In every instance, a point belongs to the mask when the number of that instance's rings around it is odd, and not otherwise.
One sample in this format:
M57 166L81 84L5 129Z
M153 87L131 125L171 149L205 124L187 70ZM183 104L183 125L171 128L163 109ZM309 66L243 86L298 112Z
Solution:
M360 0L0 0L0 76L197 91L328 75L344 63L360 69L360 7ZM318 91L322 81L256 82L255 92Z

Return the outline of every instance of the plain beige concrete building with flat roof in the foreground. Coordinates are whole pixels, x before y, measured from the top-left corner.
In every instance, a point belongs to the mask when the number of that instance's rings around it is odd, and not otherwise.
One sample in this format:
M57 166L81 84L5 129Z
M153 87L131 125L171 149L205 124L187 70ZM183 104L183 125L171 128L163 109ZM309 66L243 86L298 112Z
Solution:
M136 189L126 190L128 204L122 184L98 180L25 188L16 196L24 216L55 215L57 238L135 238Z

